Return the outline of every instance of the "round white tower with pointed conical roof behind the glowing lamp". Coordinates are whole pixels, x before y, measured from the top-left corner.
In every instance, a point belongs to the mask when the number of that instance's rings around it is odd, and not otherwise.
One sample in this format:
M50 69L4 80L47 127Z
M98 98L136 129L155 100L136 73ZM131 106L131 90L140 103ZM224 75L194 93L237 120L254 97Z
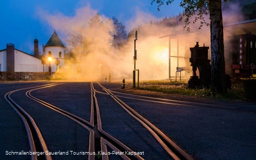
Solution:
M52 71L61 70L62 66L64 65L65 46L60 41L60 38L57 35L55 29L51 38L45 44L44 47L45 47L45 58L46 58L45 71L49 71L49 65L51 65ZM51 57L51 61L48 60L49 57Z

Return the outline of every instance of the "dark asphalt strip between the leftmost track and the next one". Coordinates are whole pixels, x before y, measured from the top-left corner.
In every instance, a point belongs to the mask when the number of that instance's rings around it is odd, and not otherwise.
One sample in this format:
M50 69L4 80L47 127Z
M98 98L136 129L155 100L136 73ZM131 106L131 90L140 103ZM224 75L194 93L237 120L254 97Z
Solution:
M54 87L54 86L53 86ZM49 89L49 93L52 90ZM15 92L11 98L17 102L27 113L33 117L39 130L41 131L45 143L51 152L67 152L68 155L52 155L53 159L85 159L87 155L71 155L71 151L88 151L89 150L89 131L83 126L77 124L68 117L47 108L40 103L26 97L27 90ZM32 92L33 93L33 92ZM53 92L55 93L55 92ZM48 97L51 94L48 95ZM58 99L69 103L69 97ZM70 97L73 99L73 97Z

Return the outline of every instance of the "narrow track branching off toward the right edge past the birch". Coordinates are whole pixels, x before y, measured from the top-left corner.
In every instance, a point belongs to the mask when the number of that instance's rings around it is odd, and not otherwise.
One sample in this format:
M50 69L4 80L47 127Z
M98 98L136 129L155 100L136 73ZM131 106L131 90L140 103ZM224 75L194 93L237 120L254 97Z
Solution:
M222 110L232 110L232 111L239 111L239 112L245 112L245 113L256 113L255 105L248 105L245 108L238 106L238 104L230 103L230 104L217 104L217 103L204 103L204 102L191 102L191 101L180 101L180 100L172 100L172 99L163 99L163 98L155 98L155 97L148 97L143 95L136 95L136 94L128 94L128 93L122 93L122 92L116 92L113 90L106 89L108 92L113 93L116 97L125 98L125 99L133 99L133 100L139 100L139 101L147 101L147 102L154 102L154 103L163 103L167 105L179 105L179 106L185 106L185 107L205 107L205 108L212 108L212 109L222 109ZM95 91L97 93L101 94L108 94L100 91ZM114 94L116 93L116 94ZM123 96L123 95L125 96ZM251 109L251 110L250 110Z

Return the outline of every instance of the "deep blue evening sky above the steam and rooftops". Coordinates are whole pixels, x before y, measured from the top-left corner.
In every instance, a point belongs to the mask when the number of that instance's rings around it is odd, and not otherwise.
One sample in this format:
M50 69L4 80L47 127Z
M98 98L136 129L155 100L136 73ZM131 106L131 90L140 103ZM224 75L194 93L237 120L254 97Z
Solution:
M182 12L179 3L180 0L175 0L172 5L162 6L161 11L157 11L157 5L151 5L151 0L1 1L0 50L6 48L6 43L13 43L16 49L31 53L35 37L39 41L39 50L42 50L42 44L47 43L54 28L42 20L42 15L38 15L38 11L43 10L51 15L61 13L67 17L74 17L77 9L90 5L91 9L98 11L99 14L109 18L115 16L123 24L126 24L126 21L131 21L138 11L151 14L156 18L172 17Z

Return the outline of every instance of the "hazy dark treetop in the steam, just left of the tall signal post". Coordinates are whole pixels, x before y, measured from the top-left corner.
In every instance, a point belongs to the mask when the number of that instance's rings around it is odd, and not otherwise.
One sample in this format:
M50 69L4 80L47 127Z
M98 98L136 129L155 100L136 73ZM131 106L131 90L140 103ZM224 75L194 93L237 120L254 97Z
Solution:
M113 17L111 20L113 21L114 29L110 31L110 35L113 37L113 45L116 48L126 41L127 33L125 26L117 18Z

